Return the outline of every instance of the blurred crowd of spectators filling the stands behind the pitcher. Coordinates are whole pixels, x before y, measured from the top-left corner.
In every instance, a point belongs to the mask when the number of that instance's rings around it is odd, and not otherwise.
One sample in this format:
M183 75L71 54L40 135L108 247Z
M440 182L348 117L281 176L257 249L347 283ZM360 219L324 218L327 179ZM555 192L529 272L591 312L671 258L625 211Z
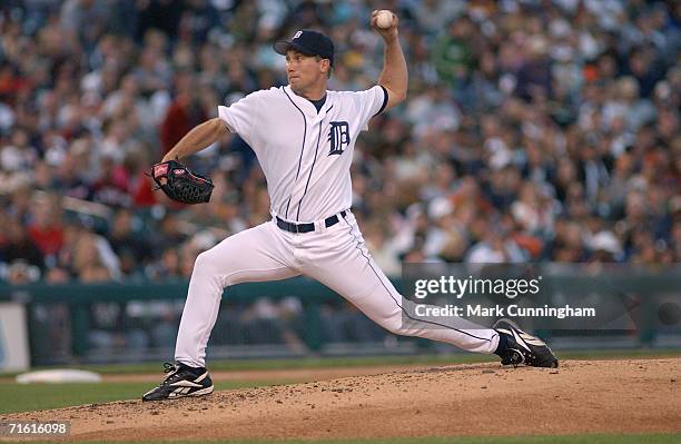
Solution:
M188 161L210 204L145 175L217 106L283 85L273 41L317 28L332 89L375 83L372 9L401 18L405 105L375 117L353 210L377 263L681 262L681 3L9 0L0 7L0 280L188 277L267 220L253 151Z

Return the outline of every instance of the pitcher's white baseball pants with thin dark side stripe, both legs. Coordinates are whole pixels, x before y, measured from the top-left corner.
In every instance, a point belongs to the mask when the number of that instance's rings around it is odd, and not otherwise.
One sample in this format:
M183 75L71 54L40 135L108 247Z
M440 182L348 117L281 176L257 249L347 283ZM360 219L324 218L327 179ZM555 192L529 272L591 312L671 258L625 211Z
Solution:
M224 288L246 282L305 275L345 297L388 332L441 341L470 352L494 353L499 334L463 318L447 327L417 320L403 326L402 296L368 253L352 213L310 233L280 229L276 220L228 237L201 253L194 265L182 312L175 358L193 367L206 364L206 345L215 325ZM448 327L451 326L451 328Z

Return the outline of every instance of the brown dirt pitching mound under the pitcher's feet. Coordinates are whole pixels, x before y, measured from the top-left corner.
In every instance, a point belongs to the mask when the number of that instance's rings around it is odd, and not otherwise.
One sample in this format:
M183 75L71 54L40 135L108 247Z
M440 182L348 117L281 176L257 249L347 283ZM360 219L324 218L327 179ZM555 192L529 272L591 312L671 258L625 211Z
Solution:
M0 420L70 420L97 441L681 432L681 358L453 365Z

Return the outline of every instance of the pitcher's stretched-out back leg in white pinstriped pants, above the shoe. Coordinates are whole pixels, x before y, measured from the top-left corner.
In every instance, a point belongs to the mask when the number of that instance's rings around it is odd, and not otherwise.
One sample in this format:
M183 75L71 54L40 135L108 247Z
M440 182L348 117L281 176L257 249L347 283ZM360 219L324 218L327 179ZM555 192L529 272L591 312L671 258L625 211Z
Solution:
M343 229L327 231L334 248L319 249L322 257L309 260L303 274L327 285L392 333L441 341L470 352L496 351L499 334L492 328L458 317L431 323L404 315L402 296L368 253L354 217L343 224Z

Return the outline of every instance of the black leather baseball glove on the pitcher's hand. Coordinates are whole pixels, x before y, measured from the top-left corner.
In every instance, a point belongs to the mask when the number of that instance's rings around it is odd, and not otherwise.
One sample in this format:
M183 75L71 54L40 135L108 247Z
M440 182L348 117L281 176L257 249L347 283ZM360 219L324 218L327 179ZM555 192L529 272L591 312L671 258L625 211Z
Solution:
M213 180L197 175L178 160L156 164L151 177L166 196L182 204L205 204L210 200Z

